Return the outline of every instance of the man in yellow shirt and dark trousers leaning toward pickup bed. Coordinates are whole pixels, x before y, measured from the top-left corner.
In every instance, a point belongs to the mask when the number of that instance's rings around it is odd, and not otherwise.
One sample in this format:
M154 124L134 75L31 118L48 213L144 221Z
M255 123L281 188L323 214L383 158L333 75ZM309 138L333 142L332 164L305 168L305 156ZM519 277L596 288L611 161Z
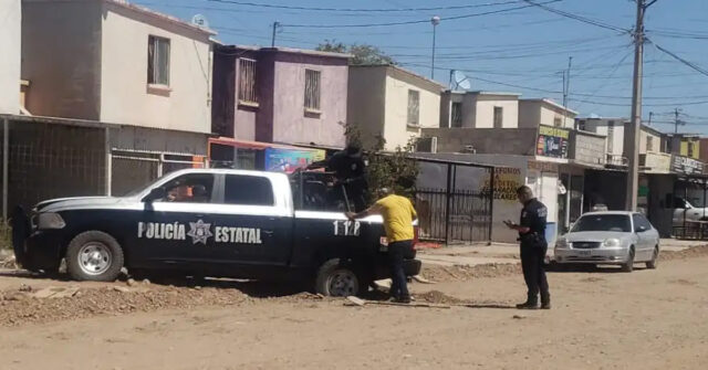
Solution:
M414 258L416 255L413 249L413 240L415 239L413 221L417 220L418 214L408 198L396 195L393 190L385 188L381 190L381 193L385 197L376 201L374 205L360 213L347 212L346 216L350 220L365 218L369 214L381 214L384 218L393 281L389 293L395 302L410 303L403 264L404 258Z

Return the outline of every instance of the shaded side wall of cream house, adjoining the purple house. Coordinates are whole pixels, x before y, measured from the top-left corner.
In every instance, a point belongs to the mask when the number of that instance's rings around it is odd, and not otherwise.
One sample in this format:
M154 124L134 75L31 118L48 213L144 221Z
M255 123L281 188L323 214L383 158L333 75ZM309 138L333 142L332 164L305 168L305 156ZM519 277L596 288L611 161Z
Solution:
M355 125L365 146L384 134L386 102L385 67L350 67L346 121Z

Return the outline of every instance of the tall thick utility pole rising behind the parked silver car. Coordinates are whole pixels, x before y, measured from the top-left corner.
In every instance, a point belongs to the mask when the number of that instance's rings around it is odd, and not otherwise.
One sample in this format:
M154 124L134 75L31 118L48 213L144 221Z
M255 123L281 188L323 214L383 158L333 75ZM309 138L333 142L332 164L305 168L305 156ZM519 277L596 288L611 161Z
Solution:
M646 0L637 2L637 20L634 29L634 78L632 86L632 118L625 133L625 154L628 159L626 209L636 211L639 192L639 130L642 127L642 66L644 64L644 13ZM627 135L628 134L628 135Z

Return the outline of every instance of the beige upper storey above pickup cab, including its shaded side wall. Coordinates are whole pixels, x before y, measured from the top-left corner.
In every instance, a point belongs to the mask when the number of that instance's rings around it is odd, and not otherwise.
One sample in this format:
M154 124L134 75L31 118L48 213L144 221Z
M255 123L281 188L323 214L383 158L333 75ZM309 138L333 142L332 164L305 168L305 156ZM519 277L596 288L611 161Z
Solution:
M207 134L215 33L122 0L25 0L33 115Z

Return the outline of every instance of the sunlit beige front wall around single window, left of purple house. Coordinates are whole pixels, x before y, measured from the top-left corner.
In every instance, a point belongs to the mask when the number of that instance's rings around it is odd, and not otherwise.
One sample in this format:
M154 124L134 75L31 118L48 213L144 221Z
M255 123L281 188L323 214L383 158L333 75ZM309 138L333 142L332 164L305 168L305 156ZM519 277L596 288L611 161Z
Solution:
M210 133L209 35L111 2L103 2L102 11L100 119ZM147 84L149 35L169 39L169 91Z

